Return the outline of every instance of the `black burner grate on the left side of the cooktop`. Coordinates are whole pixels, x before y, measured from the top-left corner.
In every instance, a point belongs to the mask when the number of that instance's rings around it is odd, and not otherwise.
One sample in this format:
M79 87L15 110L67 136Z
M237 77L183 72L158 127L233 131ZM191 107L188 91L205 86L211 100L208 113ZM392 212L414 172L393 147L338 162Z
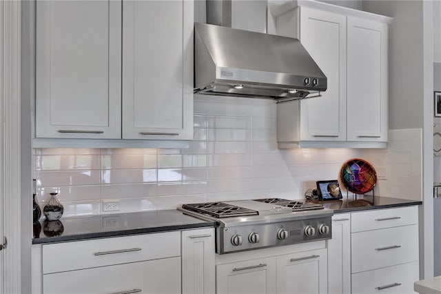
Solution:
M203 213L216 218L240 217L245 215L258 215L258 211L249 208L234 206L223 202L207 202L196 204L183 204L182 208Z

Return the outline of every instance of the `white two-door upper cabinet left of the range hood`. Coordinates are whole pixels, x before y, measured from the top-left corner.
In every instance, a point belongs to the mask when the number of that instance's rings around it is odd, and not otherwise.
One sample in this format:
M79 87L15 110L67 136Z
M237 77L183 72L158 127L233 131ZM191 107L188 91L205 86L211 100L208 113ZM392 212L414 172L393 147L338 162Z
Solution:
M37 138L192 139L193 1L37 1Z

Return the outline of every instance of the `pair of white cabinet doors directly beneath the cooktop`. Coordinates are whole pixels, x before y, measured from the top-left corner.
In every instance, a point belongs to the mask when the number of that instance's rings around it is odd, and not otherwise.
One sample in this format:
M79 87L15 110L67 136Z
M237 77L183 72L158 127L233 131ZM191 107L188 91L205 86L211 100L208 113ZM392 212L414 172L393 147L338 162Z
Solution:
M216 255L216 293L327 293L325 241Z

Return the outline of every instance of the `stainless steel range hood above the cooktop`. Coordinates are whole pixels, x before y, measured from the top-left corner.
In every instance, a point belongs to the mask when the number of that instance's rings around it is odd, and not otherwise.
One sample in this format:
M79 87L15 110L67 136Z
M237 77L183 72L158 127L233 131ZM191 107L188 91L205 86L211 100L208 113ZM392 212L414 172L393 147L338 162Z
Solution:
M194 23L194 92L303 99L327 78L298 39Z

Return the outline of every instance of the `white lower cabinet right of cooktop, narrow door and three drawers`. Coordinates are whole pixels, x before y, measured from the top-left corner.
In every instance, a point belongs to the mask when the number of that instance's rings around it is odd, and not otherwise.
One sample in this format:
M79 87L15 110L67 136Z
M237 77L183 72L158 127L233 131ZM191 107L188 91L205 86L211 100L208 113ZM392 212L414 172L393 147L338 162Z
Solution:
M414 293L418 244L418 206L334 215L329 293Z

